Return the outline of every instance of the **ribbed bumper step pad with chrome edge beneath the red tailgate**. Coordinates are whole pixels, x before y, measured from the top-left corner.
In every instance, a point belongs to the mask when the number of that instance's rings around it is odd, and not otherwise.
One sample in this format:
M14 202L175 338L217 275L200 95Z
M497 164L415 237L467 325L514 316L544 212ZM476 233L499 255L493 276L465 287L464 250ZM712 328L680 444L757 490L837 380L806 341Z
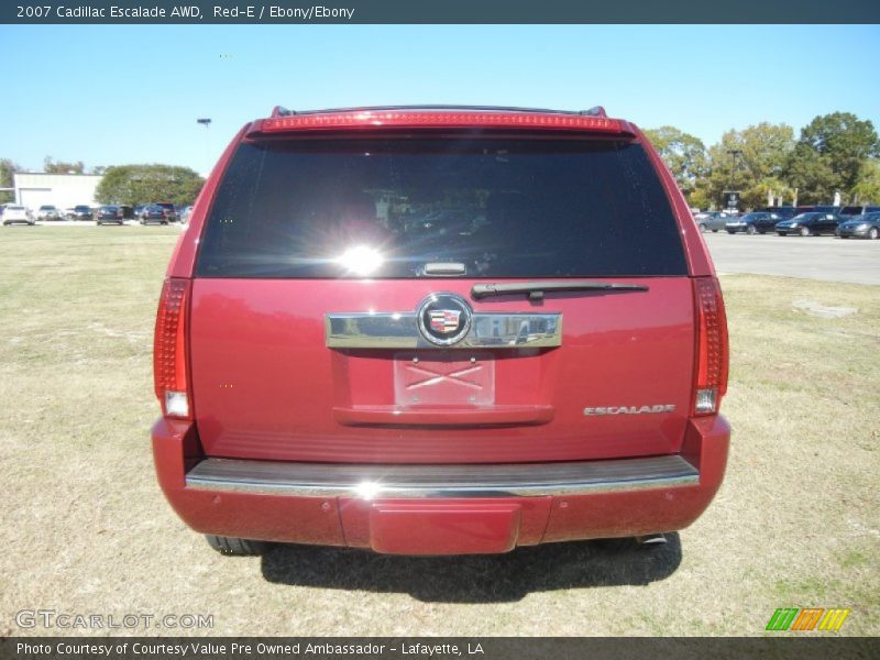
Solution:
M498 497L590 495L700 483L680 455L579 463L352 465L206 459L186 486L292 497Z

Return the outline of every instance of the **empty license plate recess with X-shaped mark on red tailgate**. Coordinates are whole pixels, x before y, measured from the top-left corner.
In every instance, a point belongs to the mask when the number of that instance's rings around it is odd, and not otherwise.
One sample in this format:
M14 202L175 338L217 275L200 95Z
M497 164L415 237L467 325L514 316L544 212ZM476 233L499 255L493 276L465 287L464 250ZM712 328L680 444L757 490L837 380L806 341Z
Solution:
M495 360L481 351L407 351L394 355L397 406L492 406Z

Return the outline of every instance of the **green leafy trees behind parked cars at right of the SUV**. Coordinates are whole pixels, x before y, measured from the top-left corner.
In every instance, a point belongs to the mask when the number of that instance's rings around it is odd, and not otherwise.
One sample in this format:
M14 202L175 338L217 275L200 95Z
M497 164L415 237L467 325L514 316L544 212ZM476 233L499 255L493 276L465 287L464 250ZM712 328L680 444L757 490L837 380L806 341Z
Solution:
M692 207L724 206L740 193L740 208L770 205L880 204L880 141L873 124L849 112L816 117L801 129L762 122L727 131L708 148L674 127L645 131Z

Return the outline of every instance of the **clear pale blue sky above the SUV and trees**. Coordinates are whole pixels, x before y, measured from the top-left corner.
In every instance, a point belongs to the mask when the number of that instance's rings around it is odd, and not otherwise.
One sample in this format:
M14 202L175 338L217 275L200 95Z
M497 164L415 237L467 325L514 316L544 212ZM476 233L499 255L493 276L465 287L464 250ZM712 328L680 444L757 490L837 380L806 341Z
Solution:
M879 37L877 25L1 25L0 157L205 173L275 105L603 105L707 146L836 110L880 129Z

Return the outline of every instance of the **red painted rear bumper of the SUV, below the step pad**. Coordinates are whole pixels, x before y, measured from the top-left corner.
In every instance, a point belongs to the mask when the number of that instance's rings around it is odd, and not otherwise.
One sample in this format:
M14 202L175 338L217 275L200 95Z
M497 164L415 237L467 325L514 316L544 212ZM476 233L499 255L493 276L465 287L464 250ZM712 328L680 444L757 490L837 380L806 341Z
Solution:
M204 534L373 548L407 554L502 552L516 546L674 531L688 527L718 490L730 429L723 417L691 420L684 455L700 485L579 496L435 501L286 497L184 486L198 454L191 422L153 427L160 484L177 514Z

